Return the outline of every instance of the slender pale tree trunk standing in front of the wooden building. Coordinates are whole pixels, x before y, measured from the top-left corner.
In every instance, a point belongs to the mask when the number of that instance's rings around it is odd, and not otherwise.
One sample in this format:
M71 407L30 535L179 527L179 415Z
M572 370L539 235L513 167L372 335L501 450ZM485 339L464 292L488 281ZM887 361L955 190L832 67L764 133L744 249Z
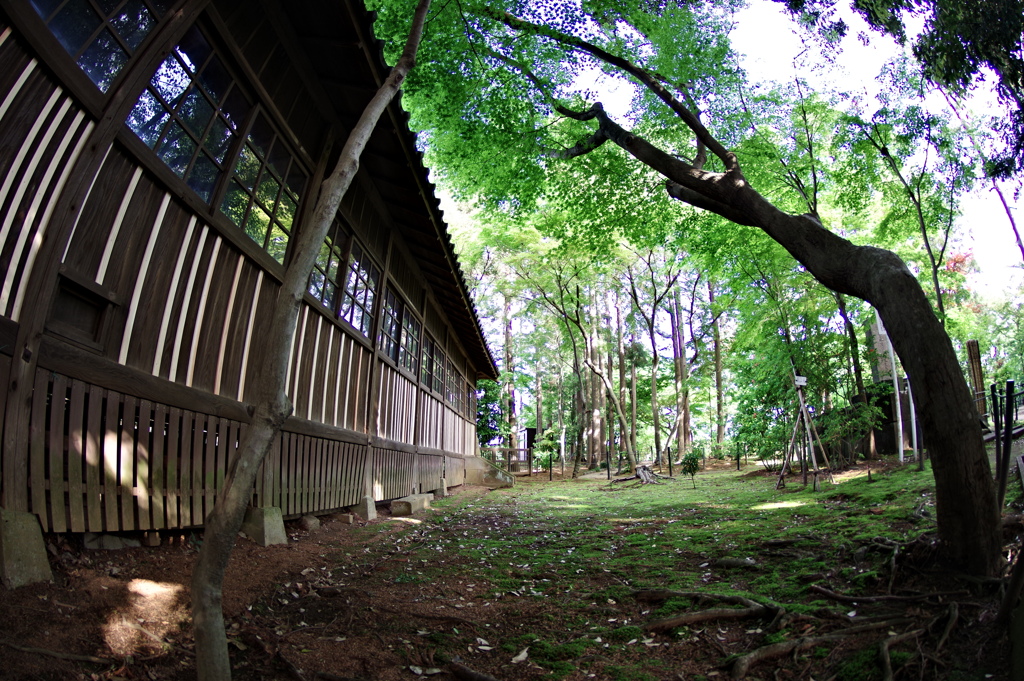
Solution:
M227 681L231 678L222 608L224 572L246 508L252 499L257 471L292 413L291 400L285 394L289 349L309 272L338 213L341 200L359 168L359 158L371 133L416 61L429 6L429 0L420 0L401 57L349 132L337 165L319 187L309 223L299 229L292 241L292 251L274 301L270 326L263 334L261 371L253 386L256 400L252 421L245 429L239 455L230 463L216 505L204 519L203 546L193 568L191 611L196 670L200 681Z

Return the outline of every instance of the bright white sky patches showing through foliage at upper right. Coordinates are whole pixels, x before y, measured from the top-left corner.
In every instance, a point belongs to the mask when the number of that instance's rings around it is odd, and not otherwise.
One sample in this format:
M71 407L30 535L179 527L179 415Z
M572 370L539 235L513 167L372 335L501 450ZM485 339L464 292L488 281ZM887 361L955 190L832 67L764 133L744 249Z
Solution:
M812 85L873 95L879 88L876 77L886 60L898 53L898 47L891 38L870 31L849 7L844 6L844 10L843 18L850 32L843 40L835 65L824 65L817 47L806 46L800 28L785 15L781 5L770 0L752 0L749 7L738 12L736 28L730 34L733 49L743 55L740 63L753 82L792 80L799 71ZM860 40L861 35L869 38L867 45ZM802 59L805 49L807 53ZM994 107L989 90L978 92L975 99L975 111ZM944 105L937 95L929 98L929 104ZM1008 197L1012 197L1012 187L1004 186ZM991 186L983 182L963 199L962 208L959 224L967 240L965 247L974 253L981 269L969 279L971 286L985 297L997 297L1024 280L1020 251L1007 215ZM1016 212L1016 215L1020 220L1021 214Z

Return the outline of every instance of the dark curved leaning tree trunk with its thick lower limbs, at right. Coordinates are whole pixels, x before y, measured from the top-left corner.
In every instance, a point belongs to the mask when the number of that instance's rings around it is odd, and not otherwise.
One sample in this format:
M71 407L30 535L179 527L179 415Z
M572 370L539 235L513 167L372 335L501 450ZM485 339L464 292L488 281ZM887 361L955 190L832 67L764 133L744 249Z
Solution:
M913 385L916 412L932 454L936 520L946 557L975 574L999 568L999 512L974 399L952 342L906 264L891 251L856 246L811 215L776 208L743 176L736 157L699 123L692 129L715 145L729 168L713 173L680 161L627 132L594 107L599 134L668 178L669 195L737 224L760 228L818 282L866 300L879 311Z

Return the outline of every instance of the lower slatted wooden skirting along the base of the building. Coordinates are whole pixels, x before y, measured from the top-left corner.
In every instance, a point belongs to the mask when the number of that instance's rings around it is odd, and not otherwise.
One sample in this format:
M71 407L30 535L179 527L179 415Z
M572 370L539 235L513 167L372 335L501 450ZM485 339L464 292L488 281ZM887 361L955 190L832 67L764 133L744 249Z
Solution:
M5 370L6 365L0 365ZM403 377L395 394L411 405ZM244 424L36 373L26 508L49 531L170 529L203 523L238 454ZM436 405L436 401L434 401ZM424 407L429 407L425 405ZM447 414L446 409L427 409ZM459 430L465 428L459 424ZM284 431L257 476L253 502L286 516L351 506L365 494L367 444ZM373 449L377 501L460 484L460 457Z

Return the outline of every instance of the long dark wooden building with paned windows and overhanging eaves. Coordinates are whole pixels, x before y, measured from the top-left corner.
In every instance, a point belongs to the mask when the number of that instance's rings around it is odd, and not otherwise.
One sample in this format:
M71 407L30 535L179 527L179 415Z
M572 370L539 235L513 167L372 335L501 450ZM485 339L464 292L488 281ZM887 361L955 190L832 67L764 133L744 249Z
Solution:
M201 525L289 243L387 74L360 0L0 0L0 507ZM254 507L459 484L496 369L397 102L311 272Z

